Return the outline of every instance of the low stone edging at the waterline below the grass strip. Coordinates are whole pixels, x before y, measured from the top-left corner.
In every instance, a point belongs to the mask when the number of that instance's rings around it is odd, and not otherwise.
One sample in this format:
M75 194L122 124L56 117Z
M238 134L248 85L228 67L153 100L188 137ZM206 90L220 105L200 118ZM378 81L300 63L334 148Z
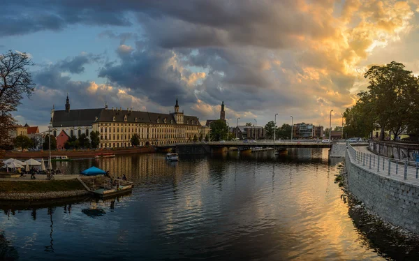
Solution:
M78 191L54 191L43 193L1 193L0 200L52 200L64 197L78 197L88 195L89 192L82 189Z

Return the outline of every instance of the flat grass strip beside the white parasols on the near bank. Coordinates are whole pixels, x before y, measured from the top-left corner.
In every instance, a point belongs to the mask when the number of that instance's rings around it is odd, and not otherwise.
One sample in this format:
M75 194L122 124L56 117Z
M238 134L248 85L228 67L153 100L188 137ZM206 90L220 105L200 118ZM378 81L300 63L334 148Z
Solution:
M0 181L0 193L36 193L84 189L78 180Z

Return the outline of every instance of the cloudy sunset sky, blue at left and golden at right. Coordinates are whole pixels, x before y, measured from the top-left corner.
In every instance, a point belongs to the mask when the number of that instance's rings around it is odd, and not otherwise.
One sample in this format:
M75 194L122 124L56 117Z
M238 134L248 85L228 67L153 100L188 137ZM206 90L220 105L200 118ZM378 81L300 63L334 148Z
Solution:
M418 75L419 0L5 0L0 53L26 52L36 90L13 115L45 130L50 110L180 110L230 126L341 126L391 61ZM256 119L256 121L255 121Z

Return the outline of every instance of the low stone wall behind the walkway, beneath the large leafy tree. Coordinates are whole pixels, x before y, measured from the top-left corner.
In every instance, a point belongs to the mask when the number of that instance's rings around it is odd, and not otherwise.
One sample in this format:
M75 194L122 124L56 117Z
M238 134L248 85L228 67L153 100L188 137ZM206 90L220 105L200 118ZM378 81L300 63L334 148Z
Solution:
M416 161L419 144L405 144L399 142L384 142L373 140L369 142L368 149L375 154L403 161Z

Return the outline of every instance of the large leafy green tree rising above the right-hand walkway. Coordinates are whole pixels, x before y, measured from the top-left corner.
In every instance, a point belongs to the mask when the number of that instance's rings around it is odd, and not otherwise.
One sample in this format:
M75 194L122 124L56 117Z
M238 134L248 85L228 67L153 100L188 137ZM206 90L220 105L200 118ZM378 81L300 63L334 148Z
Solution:
M358 94L358 103L362 103L364 112L371 113L374 124L381 128L380 140L384 139L386 129L397 137L416 117L418 78L395 61L372 66L364 77L368 78L369 86L367 91Z

